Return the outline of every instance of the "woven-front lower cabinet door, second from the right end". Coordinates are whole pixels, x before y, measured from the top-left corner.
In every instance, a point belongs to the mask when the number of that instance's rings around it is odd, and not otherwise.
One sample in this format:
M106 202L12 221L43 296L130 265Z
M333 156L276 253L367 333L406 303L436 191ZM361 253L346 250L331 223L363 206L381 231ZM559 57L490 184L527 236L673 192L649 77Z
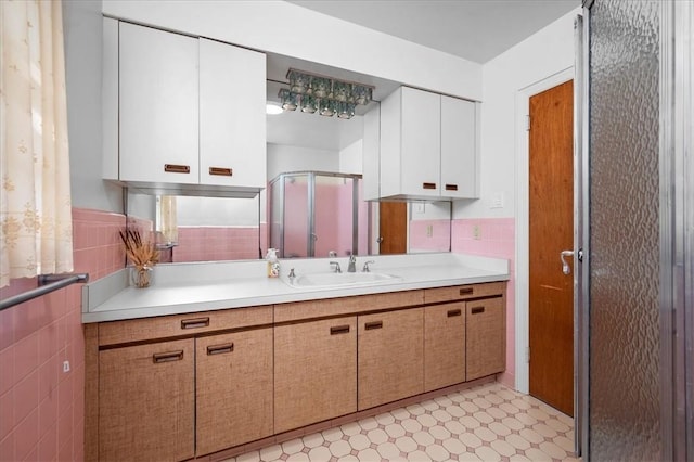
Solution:
M424 309L424 390L465 382L465 303Z

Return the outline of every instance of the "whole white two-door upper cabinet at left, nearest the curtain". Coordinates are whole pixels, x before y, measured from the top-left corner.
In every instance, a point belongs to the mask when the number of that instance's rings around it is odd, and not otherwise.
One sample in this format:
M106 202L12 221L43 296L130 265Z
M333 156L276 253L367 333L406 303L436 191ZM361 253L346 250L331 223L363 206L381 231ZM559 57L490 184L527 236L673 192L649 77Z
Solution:
M105 18L103 94L104 178L266 187L265 54Z

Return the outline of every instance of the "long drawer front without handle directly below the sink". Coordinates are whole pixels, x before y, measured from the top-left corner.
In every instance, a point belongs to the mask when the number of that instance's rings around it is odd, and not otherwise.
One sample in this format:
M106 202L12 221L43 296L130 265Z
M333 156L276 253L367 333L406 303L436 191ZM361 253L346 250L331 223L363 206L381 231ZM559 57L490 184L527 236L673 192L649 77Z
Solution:
M274 307L274 322L413 307L422 305L423 300L423 291L408 291L282 304Z

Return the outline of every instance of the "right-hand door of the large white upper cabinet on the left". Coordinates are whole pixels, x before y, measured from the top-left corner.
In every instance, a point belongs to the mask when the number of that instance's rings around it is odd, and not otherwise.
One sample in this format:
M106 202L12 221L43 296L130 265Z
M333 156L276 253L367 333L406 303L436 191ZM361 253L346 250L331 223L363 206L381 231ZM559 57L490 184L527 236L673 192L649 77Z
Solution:
M266 187L266 56L200 39L200 182Z

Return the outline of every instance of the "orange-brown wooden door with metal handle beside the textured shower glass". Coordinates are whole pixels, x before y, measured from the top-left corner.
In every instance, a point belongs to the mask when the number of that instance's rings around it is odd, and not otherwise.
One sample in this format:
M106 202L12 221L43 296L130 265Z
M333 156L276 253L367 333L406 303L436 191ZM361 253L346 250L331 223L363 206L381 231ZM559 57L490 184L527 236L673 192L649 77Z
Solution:
M574 414L573 81L530 98L530 395Z

